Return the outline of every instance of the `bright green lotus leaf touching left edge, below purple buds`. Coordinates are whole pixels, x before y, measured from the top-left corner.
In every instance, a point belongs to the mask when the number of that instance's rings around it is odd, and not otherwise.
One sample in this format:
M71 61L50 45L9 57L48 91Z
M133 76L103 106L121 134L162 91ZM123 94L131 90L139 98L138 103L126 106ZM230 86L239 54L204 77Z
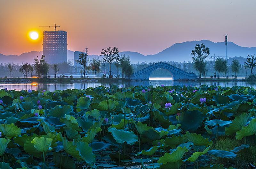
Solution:
M3 133L3 135L6 138L12 138L17 135L20 135L20 133L21 133L20 128L15 126L13 123L12 124L1 124L0 131Z

